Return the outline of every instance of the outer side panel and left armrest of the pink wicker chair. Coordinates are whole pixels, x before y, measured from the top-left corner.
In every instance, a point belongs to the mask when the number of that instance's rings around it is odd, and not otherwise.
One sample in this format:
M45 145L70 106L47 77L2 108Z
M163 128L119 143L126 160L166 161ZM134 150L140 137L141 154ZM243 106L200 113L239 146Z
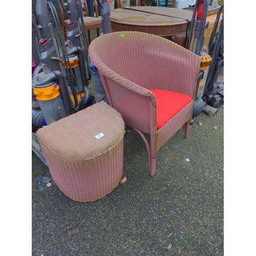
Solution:
M155 95L118 74L114 79L99 74L110 105L121 113L124 122L146 133L156 132Z

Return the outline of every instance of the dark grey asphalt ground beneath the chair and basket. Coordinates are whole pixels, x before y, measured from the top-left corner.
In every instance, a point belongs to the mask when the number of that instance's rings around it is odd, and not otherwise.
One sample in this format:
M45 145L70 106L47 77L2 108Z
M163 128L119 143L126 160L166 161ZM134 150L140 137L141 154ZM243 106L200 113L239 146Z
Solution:
M127 182L91 203L54 182L41 193L36 176L51 175L32 154L32 255L223 255L223 114L200 114L187 139L178 131L154 177L142 139L126 132Z

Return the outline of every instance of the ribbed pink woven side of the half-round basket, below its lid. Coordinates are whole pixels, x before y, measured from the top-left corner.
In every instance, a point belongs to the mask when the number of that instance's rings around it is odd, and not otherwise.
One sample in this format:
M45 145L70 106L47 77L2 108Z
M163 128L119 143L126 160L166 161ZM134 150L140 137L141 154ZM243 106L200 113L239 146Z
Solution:
M109 152L91 160L68 160L39 140L53 181L69 198L92 202L111 193L122 178L123 138Z

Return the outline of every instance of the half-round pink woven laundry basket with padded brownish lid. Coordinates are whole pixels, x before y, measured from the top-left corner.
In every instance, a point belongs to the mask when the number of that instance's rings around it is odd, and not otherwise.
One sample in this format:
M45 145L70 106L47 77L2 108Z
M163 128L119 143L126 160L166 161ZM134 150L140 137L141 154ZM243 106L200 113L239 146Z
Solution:
M52 179L67 197L91 202L119 184L124 121L107 103L98 102L36 134Z

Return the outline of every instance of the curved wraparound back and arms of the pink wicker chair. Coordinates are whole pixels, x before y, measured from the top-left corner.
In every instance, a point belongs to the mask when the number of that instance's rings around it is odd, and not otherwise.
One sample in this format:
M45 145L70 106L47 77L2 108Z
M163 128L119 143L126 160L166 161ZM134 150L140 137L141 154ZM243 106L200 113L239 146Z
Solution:
M149 89L194 98L200 57L170 40L142 32L114 32L94 39L89 56L111 106L125 123L144 132L150 129L150 116L156 115L156 99Z

